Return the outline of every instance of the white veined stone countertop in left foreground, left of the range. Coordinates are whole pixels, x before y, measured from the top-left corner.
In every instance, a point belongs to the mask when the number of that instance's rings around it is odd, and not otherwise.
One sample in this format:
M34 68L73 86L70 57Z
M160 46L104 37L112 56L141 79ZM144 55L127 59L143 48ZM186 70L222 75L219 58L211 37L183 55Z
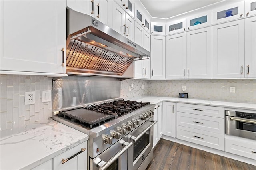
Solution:
M48 119L0 131L0 169L31 169L88 140L89 136Z

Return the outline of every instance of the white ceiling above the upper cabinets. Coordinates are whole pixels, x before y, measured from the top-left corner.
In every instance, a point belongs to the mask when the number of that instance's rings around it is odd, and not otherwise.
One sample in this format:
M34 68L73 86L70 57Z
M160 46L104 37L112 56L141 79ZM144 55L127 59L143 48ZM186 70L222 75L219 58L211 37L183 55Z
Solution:
M222 0L140 0L152 17L170 18Z

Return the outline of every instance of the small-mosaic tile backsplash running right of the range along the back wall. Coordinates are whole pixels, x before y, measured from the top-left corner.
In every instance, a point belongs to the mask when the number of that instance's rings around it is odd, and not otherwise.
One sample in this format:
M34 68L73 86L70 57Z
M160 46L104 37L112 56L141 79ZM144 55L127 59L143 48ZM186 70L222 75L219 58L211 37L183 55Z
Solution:
M129 92L129 85L134 90ZM146 85L147 84L147 85ZM144 85L144 90L142 90ZM185 93L190 99L256 103L256 79L226 80L134 80L121 82L121 97L138 97L142 95L178 97L186 85ZM230 86L236 87L236 93L230 93ZM146 88L145 88L146 87ZM147 89L148 88L148 89Z

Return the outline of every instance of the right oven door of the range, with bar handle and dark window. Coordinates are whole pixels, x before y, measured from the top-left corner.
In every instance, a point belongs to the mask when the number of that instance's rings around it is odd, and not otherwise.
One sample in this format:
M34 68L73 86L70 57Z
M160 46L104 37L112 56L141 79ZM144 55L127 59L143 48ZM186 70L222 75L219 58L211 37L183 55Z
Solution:
M150 118L128 134L128 142L133 142L133 148L128 153L128 170L136 170L142 163L149 163L152 160L152 156L149 154L153 148L153 126L156 122ZM151 153L153 154L153 152Z

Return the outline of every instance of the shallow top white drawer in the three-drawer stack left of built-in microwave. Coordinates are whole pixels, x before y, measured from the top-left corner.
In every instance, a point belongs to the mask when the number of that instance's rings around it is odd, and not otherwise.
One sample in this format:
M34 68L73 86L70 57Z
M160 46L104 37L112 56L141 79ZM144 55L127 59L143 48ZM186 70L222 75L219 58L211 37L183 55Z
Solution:
M212 116L212 117L221 117L221 118L225 117L224 107L177 103L177 111L185 112L185 113L193 113L197 115Z

